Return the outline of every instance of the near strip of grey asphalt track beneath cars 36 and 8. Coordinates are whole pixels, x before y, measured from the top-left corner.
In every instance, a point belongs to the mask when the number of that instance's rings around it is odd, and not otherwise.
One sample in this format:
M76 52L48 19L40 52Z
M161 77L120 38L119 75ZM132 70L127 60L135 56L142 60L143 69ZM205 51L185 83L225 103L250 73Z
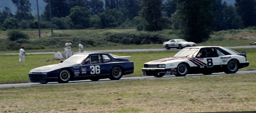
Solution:
M238 71L236 74L249 74L256 73L254 71ZM69 81L68 83L58 83L58 82L49 82L47 84L40 83L19 83L19 84L0 84L0 88L8 88L8 87L29 87L29 86L43 86L43 85L64 85L64 84L80 84L80 83L92 83L92 82L111 82L111 81L127 81L127 80L152 80L152 79L174 79L174 78L183 78L183 77L198 77L198 76L218 76L225 75L225 73L213 73L210 75L203 74L187 74L186 76L176 77L174 75L167 75L161 78L157 78L154 76L138 76L138 77L122 77L120 80L110 80L110 79L100 79L99 81L91 81L91 80L83 80L83 81Z

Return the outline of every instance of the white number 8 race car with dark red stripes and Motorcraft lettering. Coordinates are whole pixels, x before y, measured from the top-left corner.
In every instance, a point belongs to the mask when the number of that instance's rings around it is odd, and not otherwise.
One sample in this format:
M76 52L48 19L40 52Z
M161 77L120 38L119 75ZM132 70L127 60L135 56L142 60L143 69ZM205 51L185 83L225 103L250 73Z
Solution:
M173 57L144 63L143 75L185 76L186 74L236 73L249 66L245 52L236 52L220 46L186 47Z

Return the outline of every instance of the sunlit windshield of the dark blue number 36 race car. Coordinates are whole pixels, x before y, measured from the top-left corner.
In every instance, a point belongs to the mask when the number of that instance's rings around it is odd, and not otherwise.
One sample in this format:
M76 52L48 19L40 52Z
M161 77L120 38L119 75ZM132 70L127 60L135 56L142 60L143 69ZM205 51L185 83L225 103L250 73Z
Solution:
M63 61L63 63L81 63L88 54L74 54L71 57L69 57L67 60Z

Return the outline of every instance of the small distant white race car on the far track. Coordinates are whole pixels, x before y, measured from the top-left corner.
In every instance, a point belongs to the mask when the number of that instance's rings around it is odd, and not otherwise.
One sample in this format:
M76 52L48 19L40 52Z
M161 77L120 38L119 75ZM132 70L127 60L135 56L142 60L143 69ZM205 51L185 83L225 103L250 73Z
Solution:
M172 40L169 40L167 42L163 42L163 46L166 49L170 49L170 48L182 49L184 47L196 46L196 43L194 43L194 42L187 42L184 39L172 39Z

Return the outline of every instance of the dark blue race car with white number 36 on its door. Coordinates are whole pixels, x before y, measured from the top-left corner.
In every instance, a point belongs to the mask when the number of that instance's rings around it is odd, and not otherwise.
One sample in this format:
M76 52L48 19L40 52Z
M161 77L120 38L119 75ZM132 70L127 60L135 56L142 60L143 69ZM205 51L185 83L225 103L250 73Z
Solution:
M37 67L29 72L30 82L67 83L68 81L109 78L119 80L123 75L133 73L131 56L116 56L108 53L74 54L59 64Z

